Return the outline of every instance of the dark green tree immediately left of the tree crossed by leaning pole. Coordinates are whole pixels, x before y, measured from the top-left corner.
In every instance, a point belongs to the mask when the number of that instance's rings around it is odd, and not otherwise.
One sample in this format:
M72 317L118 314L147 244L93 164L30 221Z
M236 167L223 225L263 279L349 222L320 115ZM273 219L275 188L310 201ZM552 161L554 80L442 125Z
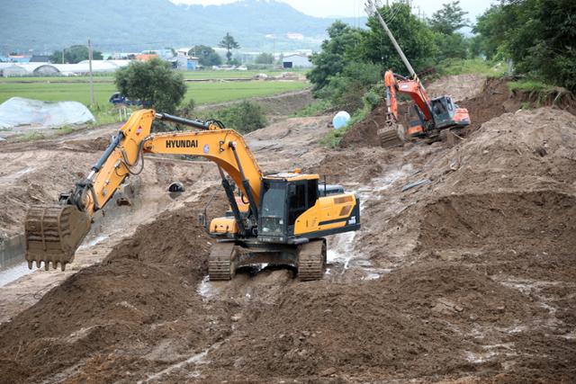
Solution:
M329 78L342 72L353 57L351 52L361 40L359 29L336 21L328 28L329 39L322 41L322 50L311 55L314 68L306 75L314 85L314 91L329 84Z

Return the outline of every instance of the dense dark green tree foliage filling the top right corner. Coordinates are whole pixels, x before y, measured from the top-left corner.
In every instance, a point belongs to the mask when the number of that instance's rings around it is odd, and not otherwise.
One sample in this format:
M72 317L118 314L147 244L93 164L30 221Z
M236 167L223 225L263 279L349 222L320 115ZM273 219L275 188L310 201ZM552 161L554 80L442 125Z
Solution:
M512 58L519 73L576 92L576 2L506 0L478 18L486 56Z

